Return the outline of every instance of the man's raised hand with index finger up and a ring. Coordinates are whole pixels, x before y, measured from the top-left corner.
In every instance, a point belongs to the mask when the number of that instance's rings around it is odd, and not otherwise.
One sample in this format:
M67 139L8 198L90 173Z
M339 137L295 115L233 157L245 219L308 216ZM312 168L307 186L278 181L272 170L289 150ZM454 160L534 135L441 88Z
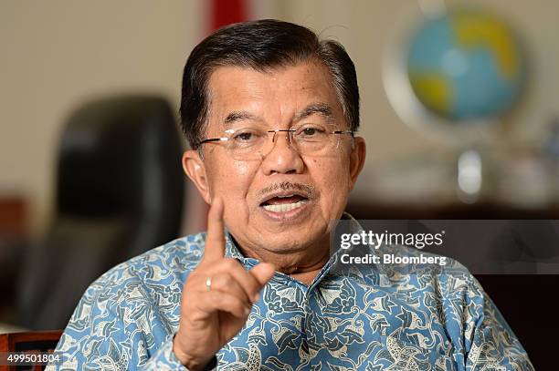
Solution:
M201 369L245 325L252 304L274 274L269 263L250 271L225 257L224 204L212 201L204 258L183 289L179 330L173 351L189 370Z

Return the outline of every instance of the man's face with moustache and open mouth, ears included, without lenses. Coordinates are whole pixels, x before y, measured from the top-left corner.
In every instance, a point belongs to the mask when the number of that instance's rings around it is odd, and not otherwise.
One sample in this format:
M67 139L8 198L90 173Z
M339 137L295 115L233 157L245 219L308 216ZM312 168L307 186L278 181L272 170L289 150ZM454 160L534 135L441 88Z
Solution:
M306 123L349 129L330 74L317 63L268 72L219 67L209 92L206 138L224 137L226 129L290 129ZM327 241L330 223L340 218L363 166L361 138L352 146L351 135L333 134L338 145L332 150L304 155L287 134L276 133L272 144L270 133L268 150L258 160L237 159L226 142L203 144L203 160L195 151L185 153L188 175L207 202L223 199L227 228L243 248L302 252Z

